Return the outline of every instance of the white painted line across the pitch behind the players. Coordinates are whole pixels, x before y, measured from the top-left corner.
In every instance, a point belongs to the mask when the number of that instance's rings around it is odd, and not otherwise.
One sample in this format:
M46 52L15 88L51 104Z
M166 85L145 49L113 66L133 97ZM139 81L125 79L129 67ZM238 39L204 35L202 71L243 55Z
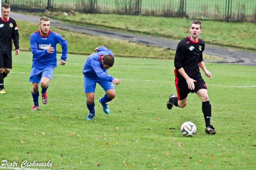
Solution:
M17 72L10 72L10 73L15 73L15 74L30 74L30 73L17 73ZM84 77L83 75L81 76L70 76L70 75L61 75L61 74L54 74L55 76L64 76L64 77ZM158 82L158 83L173 83L173 82L168 82L168 81L157 81L157 80L135 80L135 79L120 79L124 81L142 81L142 82ZM231 88L252 88L256 87L256 85L250 85L250 86L234 86L234 85L215 85L215 84L206 84L206 85L212 85L212 86L221 86L221 87L231 87Z

